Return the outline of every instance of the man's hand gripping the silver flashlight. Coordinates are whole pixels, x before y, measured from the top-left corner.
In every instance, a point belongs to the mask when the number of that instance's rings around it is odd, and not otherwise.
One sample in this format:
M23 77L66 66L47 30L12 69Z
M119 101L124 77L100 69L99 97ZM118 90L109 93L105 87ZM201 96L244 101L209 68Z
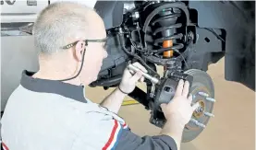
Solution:
M133 65L137 68L140 68L140 70L144 73L148 73L148 71L140 63L133 63ZM122 81L119 85L119 90L125 94L129 94L135 89L138 81L144 81L144 77L142 76L141 72L135 73L134 71L126 68L122 77Z

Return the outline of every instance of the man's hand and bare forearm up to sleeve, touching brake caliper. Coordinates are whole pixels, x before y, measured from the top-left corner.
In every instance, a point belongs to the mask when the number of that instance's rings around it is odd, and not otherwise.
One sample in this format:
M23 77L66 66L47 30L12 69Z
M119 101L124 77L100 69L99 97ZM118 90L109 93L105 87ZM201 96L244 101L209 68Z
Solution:
M166 119L161 134L171 136L176 141L178 150L184 127L190 121L193 111L199 107L199 103L191 106L192 96L188 98L188 95L189 82L184 84L184 81L180 80L174 98L168 104L161 104Z

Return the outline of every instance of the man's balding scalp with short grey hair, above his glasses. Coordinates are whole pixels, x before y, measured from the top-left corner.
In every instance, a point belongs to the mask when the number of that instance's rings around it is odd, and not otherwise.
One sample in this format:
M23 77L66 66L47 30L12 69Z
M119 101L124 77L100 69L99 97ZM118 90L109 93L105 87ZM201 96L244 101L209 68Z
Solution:
M35 44L45 54L64 51L60 47L74 40L90 39L97 22L103 24L90 7L71 2L52 4L43 9L35 22Z

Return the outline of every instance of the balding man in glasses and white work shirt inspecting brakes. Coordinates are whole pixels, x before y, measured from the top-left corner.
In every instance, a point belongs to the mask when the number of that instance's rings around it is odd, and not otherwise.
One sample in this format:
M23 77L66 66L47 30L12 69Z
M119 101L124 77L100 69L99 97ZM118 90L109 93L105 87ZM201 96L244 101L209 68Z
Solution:
M140 137L116 115L123 99L143 81L140 72L131 75L126 69L119 87L101 104L84 97L84 87L97 79L107 56L104 22L94 10L52 4L37 18L33 34L40 69L25 70L8 99L1 121L4 149L179 149L184 126L197 107L191 107L188 82L181 80L172 102L161 105L167 120L161 133ZM146 72L140 63L134 65Z

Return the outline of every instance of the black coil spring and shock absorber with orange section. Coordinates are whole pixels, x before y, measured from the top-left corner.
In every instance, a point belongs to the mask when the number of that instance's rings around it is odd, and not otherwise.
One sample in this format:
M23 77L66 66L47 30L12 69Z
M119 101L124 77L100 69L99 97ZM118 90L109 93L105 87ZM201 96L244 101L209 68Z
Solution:
M183 32L178 32L179 28L187 27L189 25L189 10L182 2L172 2L164 4L156 4L152 6L152 13L146 18L143 31L144 45L147 49L147 36L148 29L151 28L153 39L153 49L150 52L156 53L156 55L163 54L164 59L171 59L174 56L174 52L179 52L180 49L184 48L182 42L178 43L178 40L186 40L187 29L182 29ZM177 18L185 14L185 20L183 23L177 23Z

